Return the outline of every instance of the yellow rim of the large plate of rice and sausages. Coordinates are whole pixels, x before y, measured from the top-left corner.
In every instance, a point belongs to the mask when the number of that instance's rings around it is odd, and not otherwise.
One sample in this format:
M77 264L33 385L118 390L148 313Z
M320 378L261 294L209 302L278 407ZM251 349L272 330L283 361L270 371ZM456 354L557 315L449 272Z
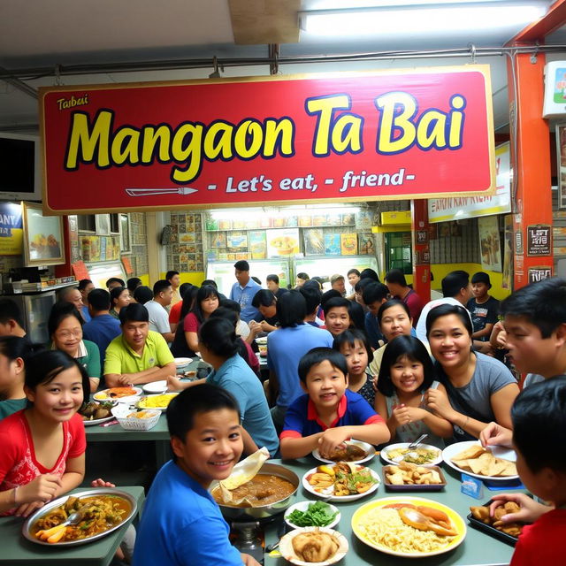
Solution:
M372 511L373 509L379 509L382 507L386 507L386 505L390 505L391 503L412 503L413 505L425 505L427 507L432 507L432 509L440 509L444 511L448 517L450 517L450 521L455 526L455 530L458 534L446 547L442 547L439 550L433 550L431 552L400 552L398 550L393 550L392 548L385 547L382 545L378 545L371 540L366 539L363 535L363 532L360 529L360 521L362 520L363 516L367 513ZM412 527L411 527L412 528ZM434 556L434 555L441 555L445 552L453 550L457 547L460 543L462 543L463 539L466 536L466 524L461 516L459 516L454 509L450 509L446 505L442 505L438 501L432 501L430 499L424 499L423 497L386 497L384 499L379 499L376 501L370 501L366 503L359 509L356 509L354 516L352 516L352 531L356 534L356 537L360 539L364 544L368 545L368 547L376 548L387 555L394 555L394 556L403 556L405 558L422 558L424 556Z

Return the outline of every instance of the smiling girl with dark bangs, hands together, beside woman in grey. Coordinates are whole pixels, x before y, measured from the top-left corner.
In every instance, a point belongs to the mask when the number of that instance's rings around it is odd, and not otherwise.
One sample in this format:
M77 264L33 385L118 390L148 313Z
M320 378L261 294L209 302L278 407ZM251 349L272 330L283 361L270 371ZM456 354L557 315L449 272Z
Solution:
M427 444L444 447L442 439L452 436L452 424L427 407L425 395L434 388L444 391L434 381L431 357L420 340L400 335L386 345L379 370L376 409L386 418L394 441L412 442L426 432Z

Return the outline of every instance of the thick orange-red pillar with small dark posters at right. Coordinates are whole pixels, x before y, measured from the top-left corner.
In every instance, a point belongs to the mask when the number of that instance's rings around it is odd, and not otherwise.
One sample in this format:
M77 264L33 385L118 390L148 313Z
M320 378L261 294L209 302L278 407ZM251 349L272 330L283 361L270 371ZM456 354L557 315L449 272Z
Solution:
M520 54L513 61L508 59L515 191L514 289L550 277L554 268L549 131L547 121L542 119L544 65L545 57L541 54L534 58Z

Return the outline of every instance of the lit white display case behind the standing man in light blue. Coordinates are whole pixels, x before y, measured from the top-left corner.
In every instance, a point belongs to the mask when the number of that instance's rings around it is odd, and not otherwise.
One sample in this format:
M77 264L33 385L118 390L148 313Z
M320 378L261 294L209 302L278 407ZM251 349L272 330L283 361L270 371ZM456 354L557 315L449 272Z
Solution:
M262 282L262 287L267 288L265 285L265 278L275 273L279 276L279 287L287 288L291 279L290 275L290 261L287 258L273 257L272 259L249 259L249 275L257 277ZM208 261L206 265L206 279L214 279L218 285L218 291L222 294L230 296L230 290L236 282L234 276L234 261L229 262L213 262Z

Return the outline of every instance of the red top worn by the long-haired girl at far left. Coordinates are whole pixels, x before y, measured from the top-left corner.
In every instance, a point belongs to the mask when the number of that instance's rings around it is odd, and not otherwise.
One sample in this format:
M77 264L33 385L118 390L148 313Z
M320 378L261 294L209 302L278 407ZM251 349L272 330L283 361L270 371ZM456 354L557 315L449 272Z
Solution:
M76 458L87 449L85 425L78 414L63 423L63 449L51 469L35 459L34 440L24 410L0 421L0 447L0 492L5 492L16 486L26 486L42 474L62 476L67 458ZM1 515L11 515L14 510Z

